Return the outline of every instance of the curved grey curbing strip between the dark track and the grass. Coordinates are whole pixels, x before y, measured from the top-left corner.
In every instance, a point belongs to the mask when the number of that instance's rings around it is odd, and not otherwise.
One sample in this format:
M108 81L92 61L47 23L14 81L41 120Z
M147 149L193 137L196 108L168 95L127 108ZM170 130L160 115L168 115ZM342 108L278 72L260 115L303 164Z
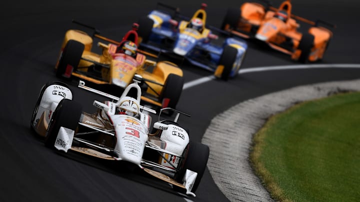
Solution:
M360 91L360 79L293 87L239 103L215 116L202 143L210 148L207 168L230 201L273 202L249 164L252 136L268 117L292 105L338 92Z

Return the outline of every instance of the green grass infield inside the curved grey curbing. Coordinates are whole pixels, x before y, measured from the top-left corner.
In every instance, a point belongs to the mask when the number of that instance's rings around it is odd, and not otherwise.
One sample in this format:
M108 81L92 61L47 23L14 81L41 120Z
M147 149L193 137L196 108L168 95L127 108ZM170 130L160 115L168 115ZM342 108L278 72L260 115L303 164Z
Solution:
M360 201L360 93L295 105L254 136L252 165L278 201Z

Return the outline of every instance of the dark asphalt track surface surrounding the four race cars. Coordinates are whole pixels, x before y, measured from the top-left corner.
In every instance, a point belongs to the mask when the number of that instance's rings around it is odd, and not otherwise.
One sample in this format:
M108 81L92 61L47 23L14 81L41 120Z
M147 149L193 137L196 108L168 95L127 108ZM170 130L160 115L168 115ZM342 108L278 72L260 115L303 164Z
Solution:
M191 16L202 0L169 0ZM227 7L241 1L207 0L207 23L219 26ZM273 1L276 6L281 1ZM172 201L180 196L162 182L153 181L120 164L60 155L44 147L29 129L29 120L41 86L58 80L53 66L64 33L73 28L71 19L95 26L109 38L120 40L132 22L155 7L148 0L6 1L0 12L0 201ZM293 13L308 19L323 19L337 25L334 37L320 63L360 63L358 39L360 3L357 0L293 1ZM288 56L249 44L242 68L294 65ZM182 64L185 82L211 73ZM178 109L192 115L182 119L194 141L201 141L212 117L229 107L263 94L293 86L360 77L360 69L303 69L255 72L228 82L211 80L183 91ZM93 99L76 89L74 99L92 112ZM230 140L229 140L230 141ZM227 201L206 170L195 202ZM185 197L186 198L186 197Z

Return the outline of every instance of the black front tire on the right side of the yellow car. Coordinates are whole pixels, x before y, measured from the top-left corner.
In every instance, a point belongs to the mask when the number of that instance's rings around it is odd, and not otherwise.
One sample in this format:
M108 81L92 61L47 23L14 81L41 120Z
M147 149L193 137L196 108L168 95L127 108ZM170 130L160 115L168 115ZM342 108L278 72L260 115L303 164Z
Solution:
M182 76L177 74L169 74L167 76L159 96L161 102L164 102L164 99L169 99L167 106L164 107L175 109L182 92L183 83Z

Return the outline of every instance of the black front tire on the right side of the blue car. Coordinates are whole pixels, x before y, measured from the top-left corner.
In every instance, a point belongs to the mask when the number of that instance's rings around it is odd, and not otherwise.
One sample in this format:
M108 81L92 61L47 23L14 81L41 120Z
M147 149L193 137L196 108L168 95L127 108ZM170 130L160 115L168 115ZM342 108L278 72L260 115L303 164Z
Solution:
M220 79L227 81L230 76L232 66L236 60L237 49L232 46L225 46L222 51L219 65L223 65L224 69L222 70Z

